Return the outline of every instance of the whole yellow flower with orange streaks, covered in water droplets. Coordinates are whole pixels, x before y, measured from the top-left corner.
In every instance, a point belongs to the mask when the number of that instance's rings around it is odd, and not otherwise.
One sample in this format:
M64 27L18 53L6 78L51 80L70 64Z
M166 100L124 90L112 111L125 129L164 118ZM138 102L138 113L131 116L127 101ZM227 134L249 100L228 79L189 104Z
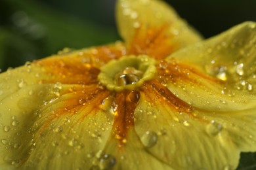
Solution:
M256 24L206 41L119 0L124 42L0 75L1 169L236 169L256 151Z

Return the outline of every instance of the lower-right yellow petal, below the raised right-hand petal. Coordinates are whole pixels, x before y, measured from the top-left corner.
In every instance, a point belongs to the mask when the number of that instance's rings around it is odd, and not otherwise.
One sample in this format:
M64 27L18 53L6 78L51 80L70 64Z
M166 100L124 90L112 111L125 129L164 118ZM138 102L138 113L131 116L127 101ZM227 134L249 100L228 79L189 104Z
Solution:
M173 169L236 169L241 151L256 150L252 112L192 109L154 80L142 88L135 131L145 149Z

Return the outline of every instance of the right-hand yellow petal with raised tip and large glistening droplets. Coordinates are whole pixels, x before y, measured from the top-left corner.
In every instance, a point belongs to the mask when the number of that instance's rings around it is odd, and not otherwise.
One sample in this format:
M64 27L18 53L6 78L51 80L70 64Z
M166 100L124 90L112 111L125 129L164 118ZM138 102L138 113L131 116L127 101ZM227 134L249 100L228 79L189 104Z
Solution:
M256 107L256 25L246 22L171 55L160 79L186 103L211 111Z

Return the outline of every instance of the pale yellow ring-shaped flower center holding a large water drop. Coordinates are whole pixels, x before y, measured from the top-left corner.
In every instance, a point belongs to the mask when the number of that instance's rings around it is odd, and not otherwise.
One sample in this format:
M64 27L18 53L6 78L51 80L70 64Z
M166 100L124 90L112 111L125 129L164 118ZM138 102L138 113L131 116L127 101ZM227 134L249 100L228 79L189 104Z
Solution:
M135 90L156 73L155 60L145 55L123 56L101 68L98 80L108 90Z

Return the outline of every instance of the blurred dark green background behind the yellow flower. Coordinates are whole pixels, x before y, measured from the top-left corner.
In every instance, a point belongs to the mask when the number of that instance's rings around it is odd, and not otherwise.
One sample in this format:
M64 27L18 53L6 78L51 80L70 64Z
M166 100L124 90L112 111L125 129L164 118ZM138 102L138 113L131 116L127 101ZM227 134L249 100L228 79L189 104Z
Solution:
M256 0L166 0L205 38L251 20ZM56 54L120 39L115 0L0 0L0 71ZM255 169L256 155L242 154L238 169Z

